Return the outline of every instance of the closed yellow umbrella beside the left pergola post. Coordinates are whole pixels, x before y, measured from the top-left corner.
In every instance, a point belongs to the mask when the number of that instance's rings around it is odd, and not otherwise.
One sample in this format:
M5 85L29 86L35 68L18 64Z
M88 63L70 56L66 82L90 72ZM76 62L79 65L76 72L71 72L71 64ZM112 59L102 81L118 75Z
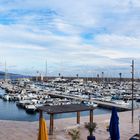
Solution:
M40 119L38 140L49 140L46 121L44 118Z

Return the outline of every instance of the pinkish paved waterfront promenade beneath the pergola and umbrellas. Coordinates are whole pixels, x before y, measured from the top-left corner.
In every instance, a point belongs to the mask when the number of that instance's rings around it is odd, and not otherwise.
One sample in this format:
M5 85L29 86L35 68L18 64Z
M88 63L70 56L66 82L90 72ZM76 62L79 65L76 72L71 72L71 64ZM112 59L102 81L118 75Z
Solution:
M120 136L121 140L129 140L129 138L137 133L139 123L138 115L140 110L134 112L134 123L131 123L131 112L119 113L120 118ZM97 123L95 136L97 140L107 140L109 133L106 131L106 125L109 123L110 115L96 115L94 121ZM84 122L89 120L88 117L81 117L80 140L86 140L88 135L84 128ZM55 132L50 136L50 140L70 140L66 133L66 129L75 126L76 118L57 119L54 121ZM49 122L47 121L49 125ZM18 121L0 121L0 140L37 140L38 122L18 122Z

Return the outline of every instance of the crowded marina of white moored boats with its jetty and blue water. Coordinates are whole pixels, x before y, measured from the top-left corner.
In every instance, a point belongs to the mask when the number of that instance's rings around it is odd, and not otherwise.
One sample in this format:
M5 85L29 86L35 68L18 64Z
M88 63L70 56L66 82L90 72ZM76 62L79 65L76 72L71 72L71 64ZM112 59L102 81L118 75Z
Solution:
M121 86L120 86L121 84ZM139 83L135 83L135 109L139 108ZM83 79L54 78L47 82L34 81L28 78L18 80L1 80L0 104L2 112L0 119L36 121L39 107L53 105L85 104L97 107L94 114L110 113L112 107L118 111L131 110L131 83L84 81ZM126 100L127 97L127 100ZM130 97L130 98L129 98ZM13 111L14 110L14 111ZM12 116L12 111L15 112ZM11 115L6 117L6 112ZM19 115L20 114L20 115ZM74 117L75 113L59 114L56 118ZM88 112L82 112L82 116ZM48 119L49 116L45 115Z

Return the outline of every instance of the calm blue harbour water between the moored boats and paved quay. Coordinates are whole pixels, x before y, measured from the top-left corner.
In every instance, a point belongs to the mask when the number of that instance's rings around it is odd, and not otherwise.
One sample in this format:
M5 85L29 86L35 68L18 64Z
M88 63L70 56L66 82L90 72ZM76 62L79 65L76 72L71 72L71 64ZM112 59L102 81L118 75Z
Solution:
M0 89L0 95L5 94L5 91ZM97 107L94 110L94 115L111 113L111 110ZM49 115L43 114L45 119L49 120ZM81 116L88 116L89 111L81 112ZM76 113L56 114L55 119L76 117ZM0 120L14 120L14 121L38 121L39 113L28 114L24 109L18 108L16 102L3 101L0 99Z

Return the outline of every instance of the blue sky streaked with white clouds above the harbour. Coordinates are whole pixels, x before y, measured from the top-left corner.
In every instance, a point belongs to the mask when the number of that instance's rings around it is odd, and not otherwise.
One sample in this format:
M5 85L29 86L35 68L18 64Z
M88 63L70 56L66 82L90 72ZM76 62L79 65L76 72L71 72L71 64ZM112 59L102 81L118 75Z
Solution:
M0 0L0 71L140 75L140 0Z

